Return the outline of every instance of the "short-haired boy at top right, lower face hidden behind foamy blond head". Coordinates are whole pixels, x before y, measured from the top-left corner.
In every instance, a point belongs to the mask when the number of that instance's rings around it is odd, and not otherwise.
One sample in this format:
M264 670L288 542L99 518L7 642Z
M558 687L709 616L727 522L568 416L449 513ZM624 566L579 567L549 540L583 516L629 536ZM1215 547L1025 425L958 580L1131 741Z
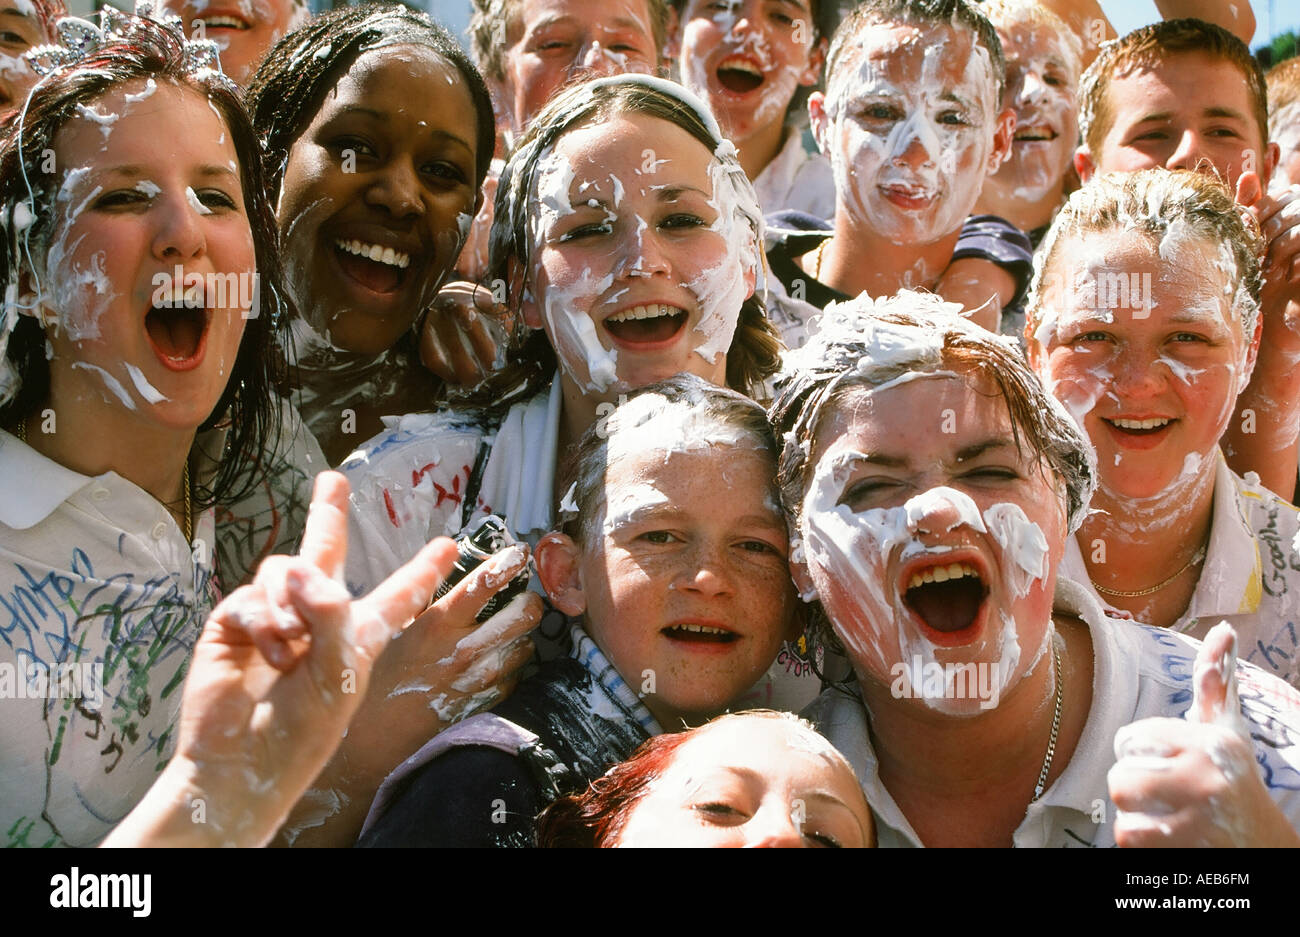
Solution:
M1223 437L1234 472L1258 473L1292 499L1300 429L1300 200L1266 191L1278 165L1269 143L1264 74L1245 43L1200 19L1167 19L1106 45L1079 87L1083 146L1075 169L1192 169L1227 182L1269 240L1264 339L1238 418Z

